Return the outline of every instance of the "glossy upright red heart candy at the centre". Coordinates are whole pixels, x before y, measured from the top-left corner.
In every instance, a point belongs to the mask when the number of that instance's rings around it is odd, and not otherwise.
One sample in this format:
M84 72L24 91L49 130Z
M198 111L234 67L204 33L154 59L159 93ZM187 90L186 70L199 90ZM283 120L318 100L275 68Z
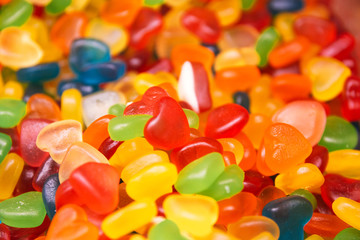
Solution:
M190 127L180 105L170 97L154 106L154 117L145 125L144 136L156 148L170 150L190 140Z

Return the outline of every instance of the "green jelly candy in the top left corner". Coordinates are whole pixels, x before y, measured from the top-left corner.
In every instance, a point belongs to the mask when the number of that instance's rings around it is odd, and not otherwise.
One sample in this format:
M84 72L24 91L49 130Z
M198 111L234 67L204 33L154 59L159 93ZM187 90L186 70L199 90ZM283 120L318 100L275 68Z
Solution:
M31 16L33 6L25 0L13 0L1 8L0 30L7 27L20 27Z

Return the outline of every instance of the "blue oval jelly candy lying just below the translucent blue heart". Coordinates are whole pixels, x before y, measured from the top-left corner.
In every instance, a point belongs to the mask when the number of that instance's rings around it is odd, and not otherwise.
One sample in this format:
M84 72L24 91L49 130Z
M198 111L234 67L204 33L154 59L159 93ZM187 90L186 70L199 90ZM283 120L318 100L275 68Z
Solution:
M79 79L84 84L97 85L119 79L125 74L126 64L123 61L91 64L79 72Z

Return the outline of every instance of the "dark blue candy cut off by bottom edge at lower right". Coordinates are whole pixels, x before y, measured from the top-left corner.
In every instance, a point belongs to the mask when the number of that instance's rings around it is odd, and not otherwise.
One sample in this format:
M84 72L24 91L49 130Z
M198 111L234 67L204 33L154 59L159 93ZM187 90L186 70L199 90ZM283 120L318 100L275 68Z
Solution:
M279 240L303 240L304 226L310 221L313 207L309 200L289 196L265 205L262 215L274 220L280 228Z

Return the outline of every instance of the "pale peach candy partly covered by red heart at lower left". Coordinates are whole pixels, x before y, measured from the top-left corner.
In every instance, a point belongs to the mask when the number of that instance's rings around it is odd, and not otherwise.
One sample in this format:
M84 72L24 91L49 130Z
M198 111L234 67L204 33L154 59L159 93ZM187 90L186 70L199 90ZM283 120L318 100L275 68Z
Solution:
M107 158L96 148L84 142L73 143L59 168L60 183L68 179L76 168L88 162L109 164Z

